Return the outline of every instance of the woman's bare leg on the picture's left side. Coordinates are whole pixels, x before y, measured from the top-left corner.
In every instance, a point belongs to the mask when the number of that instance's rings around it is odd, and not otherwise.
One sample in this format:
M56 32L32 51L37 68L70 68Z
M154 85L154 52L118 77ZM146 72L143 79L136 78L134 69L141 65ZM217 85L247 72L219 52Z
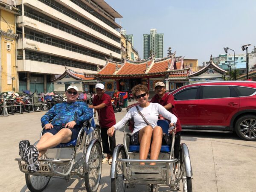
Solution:
M153 134L153 130L149 125L142 128L139 132L141 160L145 160L148 157L152 134ZM140 163L140 165L145 165L145 163Z

